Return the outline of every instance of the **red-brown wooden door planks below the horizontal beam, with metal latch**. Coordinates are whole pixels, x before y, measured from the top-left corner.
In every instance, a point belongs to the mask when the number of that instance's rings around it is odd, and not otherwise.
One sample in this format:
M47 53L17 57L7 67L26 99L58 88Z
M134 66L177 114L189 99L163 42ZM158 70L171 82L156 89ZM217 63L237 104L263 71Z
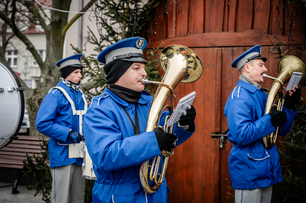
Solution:
M174 104L178 100L196 91L193 105L196 108L196 132L182 145L175 148L170 157L166 179L172 193L168 193L169 203L186 202L230 202L226 192L231 192L226 178L230 180L228 171L228 156L233 146L226 140L219 147L219 139L211 137L212 132L224 132L228 129L224 106L232 89L236 86L240 72L232 68L232 61L250 47L209 47L194 48L203 63L202 77L191 84L180 84L175 89ZM268 61L265 63L267 74L277 76L279 59L268 53L264 46L262 55ZM284 50L288 47L284 46ZM293 56L300 57L296 51L300 46L292 46ZM272 84L265 78L262 87Z

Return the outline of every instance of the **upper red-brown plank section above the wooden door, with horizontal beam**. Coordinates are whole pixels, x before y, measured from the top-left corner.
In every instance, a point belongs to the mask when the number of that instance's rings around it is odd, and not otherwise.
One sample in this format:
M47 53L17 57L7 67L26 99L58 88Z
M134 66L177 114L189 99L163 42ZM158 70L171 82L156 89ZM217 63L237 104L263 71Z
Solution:
M281 37L282 42L288 42L290 30L288 26L291 22L290 18L285 19L288 16L288 11L283 6L286 4L282 2L279 9L282 30L278 32L278 36ZM159 45L151 44L151 42L203 33L211 33L211 36L214 36L214 33L220 35L220 32L223 34L240 33L260 29L261 31L266 30L272 37L278 31L277 20L274 20L277 18L278 11L275 9L277 5L278 0L162 0L152 14L143 36L148 39L148 47ZM289 9L292 7L289 5ZM294 36L304 35L302 9L298 10L298 16L294 19L292 34ZM265 36L263 32L261 35ZM203 35L202 38L196 40L206 39L210 38ZM229 35L227 39L236 43L234 46L239 46L241 42L236 35ZM264 39L265 44L262 45L270 45L270 41L266 37ZM295 37L293 39L295 42L290 42L291 44L301 44L303 38ZM226 37L222 40L227 41ZM166 42L165 45L167 45ZM233 46L227 45L226 42L224 42L225 45L211 43L211 47ZM199 46L197 43L193 43L189 47Z

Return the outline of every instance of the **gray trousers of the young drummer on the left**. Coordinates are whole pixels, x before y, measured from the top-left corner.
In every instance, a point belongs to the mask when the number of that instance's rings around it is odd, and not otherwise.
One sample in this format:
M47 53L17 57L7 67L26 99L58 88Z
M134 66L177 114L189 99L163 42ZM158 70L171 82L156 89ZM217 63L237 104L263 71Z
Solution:
M85 178L75 163L51 168L51 203L84 203Z

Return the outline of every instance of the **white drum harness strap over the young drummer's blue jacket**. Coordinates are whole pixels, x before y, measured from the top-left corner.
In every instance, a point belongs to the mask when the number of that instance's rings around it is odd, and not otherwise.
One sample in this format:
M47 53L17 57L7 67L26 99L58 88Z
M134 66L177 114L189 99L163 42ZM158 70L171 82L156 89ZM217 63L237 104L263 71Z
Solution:
M82 90L79 89L79 91L82 93L82 99L84 101L84 110L76 110L75 105L73 100L70 98L70 96L68 95L68 93L66 92L66 90L62 87L59 86L55 86L52 87L51 89L58 89L59 91L61 91L63 93L63 95L67 98L67 100L69 101L69 103L71 104L71 108L72 108L72 113L73 115L78 115L79 116L79 132L81 135L83 135L82 132L82 125L83 125L83 115L85 115L87 108L88 108L88 103L87 103L87 99L84 96L84 93L82 92ZM51 89L49 90L49 92L51 91ZM48 92L48 93L49 93Z

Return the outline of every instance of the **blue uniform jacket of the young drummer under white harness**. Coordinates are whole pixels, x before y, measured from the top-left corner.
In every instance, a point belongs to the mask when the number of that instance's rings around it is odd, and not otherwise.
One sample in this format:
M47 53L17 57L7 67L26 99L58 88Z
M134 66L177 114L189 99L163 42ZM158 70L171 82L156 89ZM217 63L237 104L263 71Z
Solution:
M58 82L56 86L66 90L73 100L76 110L84 110L84 101L80 91L77 92L62 82ZM79 132L79 116L73 115L71 104L61 91L52 89L45 96L39 107L35 126L39 132L50 137L50 168L73 163L82 165L83 158L68 158L68 145L61 145L71 143L67 139L70 129Z

